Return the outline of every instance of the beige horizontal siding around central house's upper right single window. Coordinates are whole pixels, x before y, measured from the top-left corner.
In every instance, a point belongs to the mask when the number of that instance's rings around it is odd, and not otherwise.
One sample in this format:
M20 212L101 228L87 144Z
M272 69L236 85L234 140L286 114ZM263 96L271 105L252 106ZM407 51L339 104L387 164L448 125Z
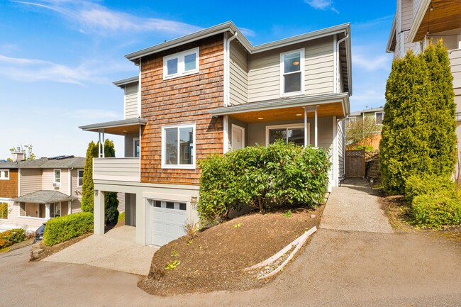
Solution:
M306 95L333 93L333 38L321 38L249 56L248 101L280 97L280 53L304 48Z

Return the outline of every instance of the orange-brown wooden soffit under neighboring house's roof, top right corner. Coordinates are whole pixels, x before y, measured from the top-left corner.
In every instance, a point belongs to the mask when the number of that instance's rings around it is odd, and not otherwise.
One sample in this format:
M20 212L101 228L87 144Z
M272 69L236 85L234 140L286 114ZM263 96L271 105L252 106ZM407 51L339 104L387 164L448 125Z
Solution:
M461 1L432 0L413 42L423 40L428 31L431 34L457 28L461 28Z

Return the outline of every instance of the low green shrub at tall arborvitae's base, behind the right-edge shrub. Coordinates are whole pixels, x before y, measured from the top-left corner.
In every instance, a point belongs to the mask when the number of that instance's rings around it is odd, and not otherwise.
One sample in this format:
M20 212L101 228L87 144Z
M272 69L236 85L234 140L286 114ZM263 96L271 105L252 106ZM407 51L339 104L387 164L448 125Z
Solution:
M431 174L411 175L406 179L405 199L409 202L418 195L435 194L442 190L455 191L455 182L450 177Z

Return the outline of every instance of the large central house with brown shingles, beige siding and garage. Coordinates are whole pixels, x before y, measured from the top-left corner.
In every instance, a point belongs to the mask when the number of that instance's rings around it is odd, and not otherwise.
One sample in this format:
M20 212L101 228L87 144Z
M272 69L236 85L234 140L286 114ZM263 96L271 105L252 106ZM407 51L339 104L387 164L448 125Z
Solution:
M198 160L282 139L330 152L330 186L344 174L352 93L350 25L253 46L232 22L130 55L124 118L82 130L125 137L125 157L94 159L94 233L104 193L123 192L140 245L164 245L198 221Z

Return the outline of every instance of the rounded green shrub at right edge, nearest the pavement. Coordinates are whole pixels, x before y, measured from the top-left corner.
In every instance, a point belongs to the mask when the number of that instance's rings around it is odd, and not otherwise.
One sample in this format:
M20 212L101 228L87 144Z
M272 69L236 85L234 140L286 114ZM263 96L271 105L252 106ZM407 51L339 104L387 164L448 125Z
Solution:
M429 228L461 224L461 198L450 190L416 196L411 203L415 223Z

